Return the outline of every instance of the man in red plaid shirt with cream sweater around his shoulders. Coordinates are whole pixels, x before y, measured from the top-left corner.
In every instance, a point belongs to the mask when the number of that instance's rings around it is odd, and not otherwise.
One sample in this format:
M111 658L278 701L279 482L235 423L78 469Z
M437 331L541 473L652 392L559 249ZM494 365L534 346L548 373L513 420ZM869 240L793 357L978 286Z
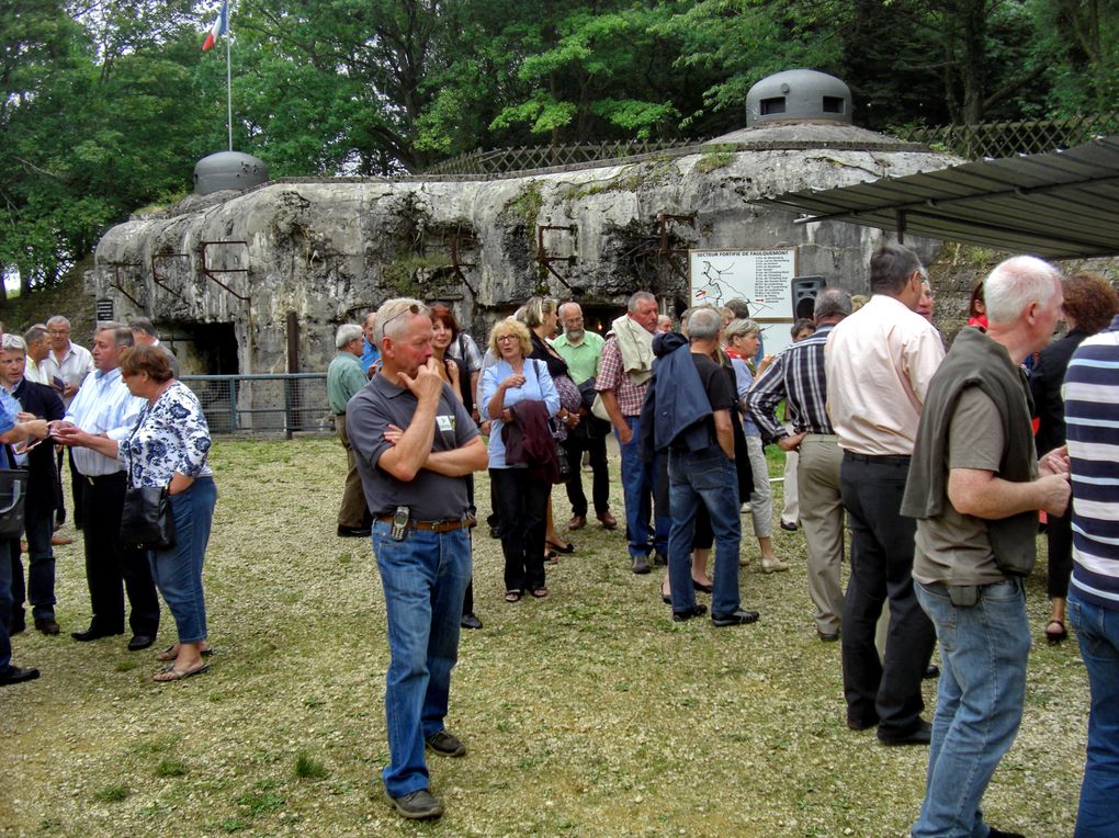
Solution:
M649 538L652 517L653 463L641 460L638 445L640 413L652 366L652 333L657 328L657 298L647 291L630 296L627 312L614 320L613 335L602 347L595 389L610 414L621 449L622 491L633 573L649 573ZM668 553L667 515L658 515L656 550Z

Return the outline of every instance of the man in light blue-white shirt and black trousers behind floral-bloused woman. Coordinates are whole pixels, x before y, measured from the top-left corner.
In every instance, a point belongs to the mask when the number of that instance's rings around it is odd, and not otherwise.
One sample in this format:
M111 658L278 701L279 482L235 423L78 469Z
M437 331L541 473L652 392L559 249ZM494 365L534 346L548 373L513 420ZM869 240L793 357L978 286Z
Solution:
M112 440L129 437L135 427L142 398L133 396L121 378L121 350L132 346L132 332L121 323L98 323L93 336L97 367L66 411L64 424ZM121 544L121 511L128 476L120 460L91 449L76 449L73 463L85 483L85 574L93 619L86 631L70 634L79 642L124 633L124 590L128 591L132 639L129 651L147 649L159 629L159 600L151 580L148 555Z

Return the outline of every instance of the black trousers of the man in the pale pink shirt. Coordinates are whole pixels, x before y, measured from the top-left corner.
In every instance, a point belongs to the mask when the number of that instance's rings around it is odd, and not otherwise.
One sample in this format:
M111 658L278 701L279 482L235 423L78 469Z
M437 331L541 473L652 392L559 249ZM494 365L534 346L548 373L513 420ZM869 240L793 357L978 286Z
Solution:
M847 717L878 723L884 737L916 729L924 709L921 680L935 631L913 594L916 522L901 516L909 458L868 458L849 452L839 469L839 491L850 516L850 580L843 608L843 682ZM874 646L882 604L890 600L885 660Z

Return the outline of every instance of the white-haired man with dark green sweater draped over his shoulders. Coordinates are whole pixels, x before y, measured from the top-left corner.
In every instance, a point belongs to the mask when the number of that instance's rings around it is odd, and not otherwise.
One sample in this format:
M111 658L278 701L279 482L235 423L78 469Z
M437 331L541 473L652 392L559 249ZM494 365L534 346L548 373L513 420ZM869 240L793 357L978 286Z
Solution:
M984 829L980 802L1022 723L1036 510L1062 515L1070 495L1064 450L1037 460L1021 368L1053 336L1061 276L1018 256L984 291L987 333L960 331L933 376L902 500L916 518L916 599L942 661L918 838L1016 835Z

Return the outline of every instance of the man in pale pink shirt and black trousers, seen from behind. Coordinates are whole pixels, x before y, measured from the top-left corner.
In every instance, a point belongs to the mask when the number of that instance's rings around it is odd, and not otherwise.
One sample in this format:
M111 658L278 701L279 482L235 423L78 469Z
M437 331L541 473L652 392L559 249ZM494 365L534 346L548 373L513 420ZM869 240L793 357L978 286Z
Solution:
M913 593L915 524L900 511L921 407L944 357L937 330L915 311L924 277L916 254L884 245L871 257L871 301L833 329L825 349L852 529L841 637L847 726L877 725L885 745L928 744L932 729L921 718L921 680L934 633ZM883 660L874 631L886 599Z

